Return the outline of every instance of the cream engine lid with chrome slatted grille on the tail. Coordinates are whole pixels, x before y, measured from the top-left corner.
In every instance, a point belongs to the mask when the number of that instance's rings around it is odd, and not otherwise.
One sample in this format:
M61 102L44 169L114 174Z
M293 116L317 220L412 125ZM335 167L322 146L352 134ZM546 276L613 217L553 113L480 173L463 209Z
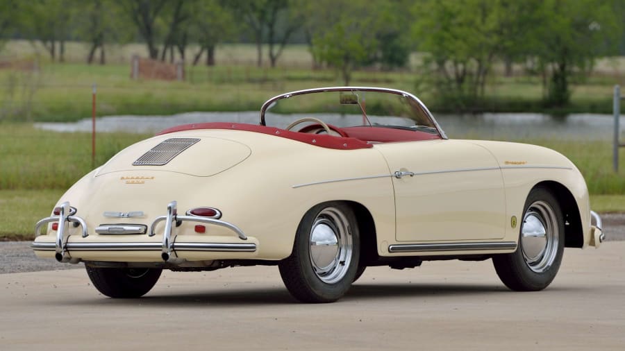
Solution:
M96 177L122 171L170 171L208 177L230 169L249 155L247 145L229 139L163 135L120 151Z

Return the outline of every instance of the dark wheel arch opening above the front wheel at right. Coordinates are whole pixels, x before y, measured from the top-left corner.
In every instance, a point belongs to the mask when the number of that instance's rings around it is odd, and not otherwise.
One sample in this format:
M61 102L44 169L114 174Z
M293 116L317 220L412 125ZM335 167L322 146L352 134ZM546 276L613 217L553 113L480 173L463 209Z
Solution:
M565 220L565 247L582 248L584 243L583 226L577 201L571 191L553 180L539 182L534 186L534 188L537 187L548 189L558 200Z

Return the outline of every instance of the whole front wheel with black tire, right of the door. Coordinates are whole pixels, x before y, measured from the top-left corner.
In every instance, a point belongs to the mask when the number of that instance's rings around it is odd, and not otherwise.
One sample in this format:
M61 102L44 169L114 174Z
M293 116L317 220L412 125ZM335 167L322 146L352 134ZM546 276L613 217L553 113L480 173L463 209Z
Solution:
M534 188L525 203L517 250L492 258L503 284L515 291L537 291L556 277L564 252L564 221L551 191Z

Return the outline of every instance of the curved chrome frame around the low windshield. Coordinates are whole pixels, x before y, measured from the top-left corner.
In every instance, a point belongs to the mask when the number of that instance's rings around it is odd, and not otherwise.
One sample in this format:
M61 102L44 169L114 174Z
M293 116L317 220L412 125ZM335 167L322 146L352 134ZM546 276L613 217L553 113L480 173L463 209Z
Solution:
M440 135L440 137L442 139L448 139L444 130L440 128L438 122L432 115L432 112L428 110L426 105L421 100L419 100L417 96L410 94L409 92L404 92L403 90L383 88L383 87L321 87L321 88L313 88L313 89L296 90L294 92L288 92L288 93L276 95L272 97L271 99L265 101L265 103L263 103L263 106L260 107L260 125L266 126L265 112L267 112L267 110L269 109L269 106L271 106L276 101L282 100L282 99L289 99L292 96L298 96L298 95L304 95L304 94L315 94L315 93L321 93L321 92L381 92L381 93L395 94L395 95L400 95L406 98L410 98L413 101L415 101L415 103L417 103L419 107L422 108L422 110L424 110L427 117L430 119L430 121L432 121L433 125L438 131L438 134Z

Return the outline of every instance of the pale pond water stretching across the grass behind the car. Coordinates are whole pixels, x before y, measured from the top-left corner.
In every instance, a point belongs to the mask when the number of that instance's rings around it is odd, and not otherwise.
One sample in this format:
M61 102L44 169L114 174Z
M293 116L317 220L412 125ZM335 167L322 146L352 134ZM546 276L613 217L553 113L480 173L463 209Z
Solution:
M267 114L267 119L280 120L284 128L301 117L317 117L342 125L337 117L316 114ZM338 117L343 118L343 117ZM406 124L397 117L370 117L372 123ZM534 113L483 113L483 114L435 114L437 122L450 138L480 139L579 139L611 141L614 133L614 117L610 114L569 114L551 117ZM165 128L187 123L203 122L258 123L259 114L253 112L187 112L171 116L109 116L96 119L97 132L155 133ZM625 116L620 117L620 132L624 139ZM90 132L91 119L75 123L35 123L37 128L57 132Z

